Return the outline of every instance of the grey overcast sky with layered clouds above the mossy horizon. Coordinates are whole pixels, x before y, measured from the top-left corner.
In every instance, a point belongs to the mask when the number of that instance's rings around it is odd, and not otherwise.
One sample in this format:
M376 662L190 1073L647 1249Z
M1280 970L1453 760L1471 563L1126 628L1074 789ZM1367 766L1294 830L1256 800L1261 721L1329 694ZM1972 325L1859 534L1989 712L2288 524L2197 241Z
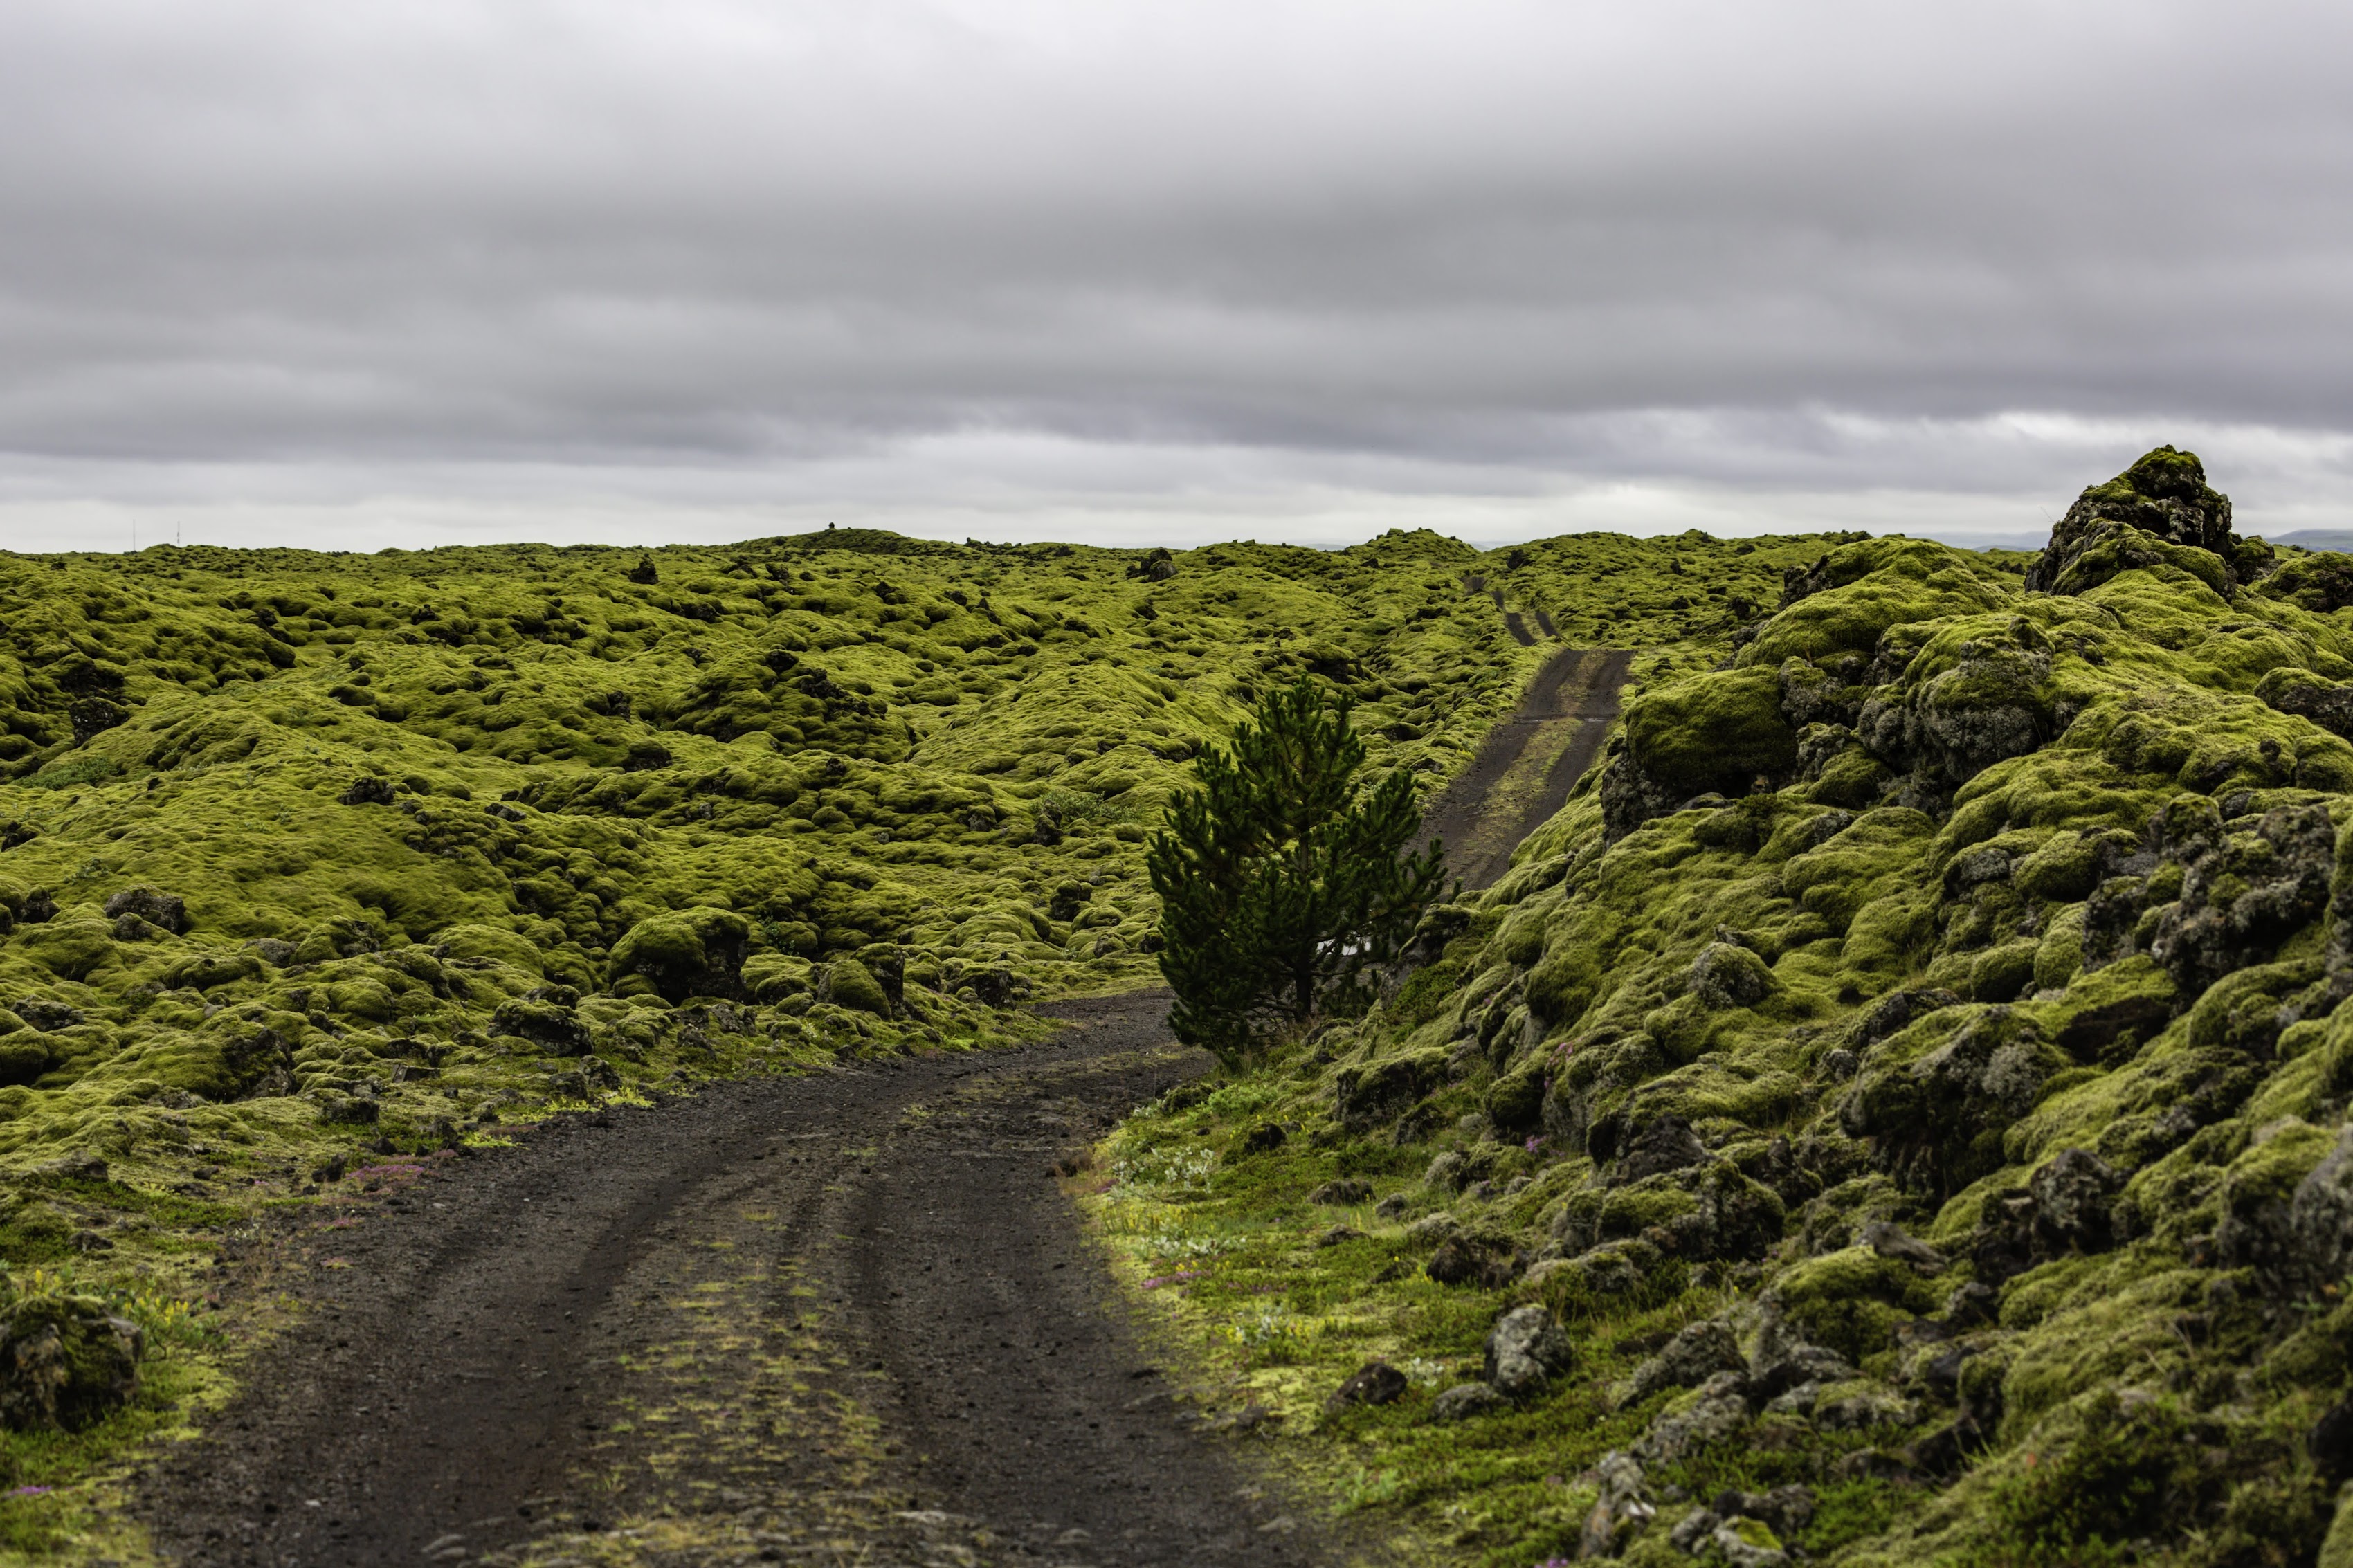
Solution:
M7 0L0 544L2353 527L2353 7Z

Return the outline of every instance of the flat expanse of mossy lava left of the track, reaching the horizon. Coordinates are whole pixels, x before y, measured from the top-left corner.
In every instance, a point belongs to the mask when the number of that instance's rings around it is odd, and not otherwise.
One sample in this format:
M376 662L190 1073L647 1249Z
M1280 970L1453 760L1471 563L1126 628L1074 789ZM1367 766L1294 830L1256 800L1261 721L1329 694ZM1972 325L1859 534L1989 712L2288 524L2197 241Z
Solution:
M1694 671L1835 542L0 553L0 1316L59 1394L0 1544L127 1552L92 1476L299 1300L254 1260L424 1163L1153 984L1146 836L1268 692L1428 793L1553 650Z

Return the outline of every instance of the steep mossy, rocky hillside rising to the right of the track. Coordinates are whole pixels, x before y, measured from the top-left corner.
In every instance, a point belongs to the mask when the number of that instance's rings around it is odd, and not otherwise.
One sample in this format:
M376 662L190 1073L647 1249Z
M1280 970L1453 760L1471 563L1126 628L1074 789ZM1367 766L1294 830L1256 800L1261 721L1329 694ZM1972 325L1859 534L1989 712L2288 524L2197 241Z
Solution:
M2353 749L2275 699L2341 680L2353 622L2325 570L2113 537L2057 593L1831 551L1628 704L1391 1001L1115 1135L1146 1300L1344 1507L1497 1568L1595 1507L1645 1563L1732 1523L1849 1563L2311 1561L2353 1462L2320 1420ZM1772 744L1718 777L1678 716ZM1572 1370L1433 1422L1520 1302ZM1729 1366L1649 1361L1704 1323ZM1405 1398L1325 1408L1374 1356Z

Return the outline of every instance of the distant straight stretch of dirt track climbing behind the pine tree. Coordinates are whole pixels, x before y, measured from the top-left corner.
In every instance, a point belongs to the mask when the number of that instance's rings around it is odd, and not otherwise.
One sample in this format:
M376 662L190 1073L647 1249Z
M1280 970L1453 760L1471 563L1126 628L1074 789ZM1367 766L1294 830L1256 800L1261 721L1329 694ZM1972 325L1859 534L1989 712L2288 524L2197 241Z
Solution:
M1569 798L1600 756L1631 669L1633 655L1614 647L1553 655L1471 768L1431 803L1424 826L1466 888L1489 888L1511 871L1520 841Z

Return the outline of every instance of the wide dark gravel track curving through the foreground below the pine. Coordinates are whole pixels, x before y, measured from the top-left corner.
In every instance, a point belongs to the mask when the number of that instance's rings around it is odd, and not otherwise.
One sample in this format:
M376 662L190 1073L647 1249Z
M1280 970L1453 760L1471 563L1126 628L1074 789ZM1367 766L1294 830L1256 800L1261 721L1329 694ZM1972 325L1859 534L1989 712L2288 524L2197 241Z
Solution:
M1165 1008L565 1118L313 1210L273 1253L296 1328L139 1511L273 1568L1308 1561L1049 1172L1207 1067Z

